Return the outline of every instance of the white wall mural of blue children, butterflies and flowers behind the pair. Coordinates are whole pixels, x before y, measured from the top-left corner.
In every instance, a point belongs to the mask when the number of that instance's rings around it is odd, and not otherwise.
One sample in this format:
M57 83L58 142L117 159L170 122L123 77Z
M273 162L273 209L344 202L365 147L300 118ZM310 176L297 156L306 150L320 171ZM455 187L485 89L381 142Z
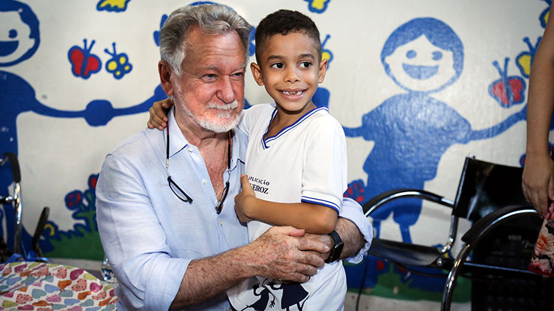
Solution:
M59 1L55 9L43 0L0 1L0 153L18 153L21 162L24 243L48 205L46 256L99 260L94 190L103 158L143 129L145 111L166 97L157 62L168 14L211 1ZM343 124L345 196L364 203L403 187L452 198L456 163L468 153L524 164L529 70L551 0L218 2L254 26L280 8L319 26L329 70L314 103ZM452 14L475 10L472 23ZM252 33L251 61L255 44ZM251 77L245 96L246 107L270 100ZM11 185L10 168L1 166L0 195ZM373 216L377 236L442 245L425 227L448 220L429 218L420 200L401 203ZM0 234L8 245L14 219L3 205ZM351 291L384 299L439 301L443 290L444 279L371 256L346 270ZM469 295L470 283L460 281L456 301Z

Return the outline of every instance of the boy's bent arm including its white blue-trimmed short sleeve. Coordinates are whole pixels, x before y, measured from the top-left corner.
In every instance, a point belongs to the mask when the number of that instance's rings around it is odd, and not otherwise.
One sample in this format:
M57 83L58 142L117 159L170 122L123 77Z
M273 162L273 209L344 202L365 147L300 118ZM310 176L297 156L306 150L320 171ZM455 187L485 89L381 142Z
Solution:
M241 221L254 218L309 233L332 232L346 189L346 141L341 125L330 115L312 120L304 131L301 202L256 198L247 176L241 176L242 192L235 197L235 211Z

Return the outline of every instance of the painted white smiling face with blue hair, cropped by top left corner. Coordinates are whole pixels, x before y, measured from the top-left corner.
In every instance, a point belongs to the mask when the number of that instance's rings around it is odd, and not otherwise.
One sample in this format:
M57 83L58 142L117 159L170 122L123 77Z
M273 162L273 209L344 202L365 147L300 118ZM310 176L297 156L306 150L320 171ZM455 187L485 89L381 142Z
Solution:
M0 3L0 66L31 57L39 46L39 21L28 6L17 1Z

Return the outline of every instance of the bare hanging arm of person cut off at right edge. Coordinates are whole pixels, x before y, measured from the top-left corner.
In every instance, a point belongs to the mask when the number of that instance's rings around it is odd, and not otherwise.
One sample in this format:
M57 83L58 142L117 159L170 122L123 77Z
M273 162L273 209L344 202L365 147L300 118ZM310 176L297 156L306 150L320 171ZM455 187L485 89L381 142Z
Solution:
M551 13L554 8L551 7ZM548 134L554 109L554 21L548 20L529 77L527 146L522 188L539 214L554 200L554 163L548 156Z

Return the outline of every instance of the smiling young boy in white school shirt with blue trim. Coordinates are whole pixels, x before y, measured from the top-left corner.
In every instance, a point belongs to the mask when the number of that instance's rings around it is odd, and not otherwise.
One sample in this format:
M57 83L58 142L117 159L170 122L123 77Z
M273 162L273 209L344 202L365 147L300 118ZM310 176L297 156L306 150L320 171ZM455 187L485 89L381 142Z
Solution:
M256 30L256 60L253 77L275 102L242 115L247 176L235 211L251 241L271 225L331 233L346 190L346 140L328 109L312 102L327 69L319 30L300 12L271 13ZM346 276L335 261L303 284L257 276L227 294L235 310L342 310Z

